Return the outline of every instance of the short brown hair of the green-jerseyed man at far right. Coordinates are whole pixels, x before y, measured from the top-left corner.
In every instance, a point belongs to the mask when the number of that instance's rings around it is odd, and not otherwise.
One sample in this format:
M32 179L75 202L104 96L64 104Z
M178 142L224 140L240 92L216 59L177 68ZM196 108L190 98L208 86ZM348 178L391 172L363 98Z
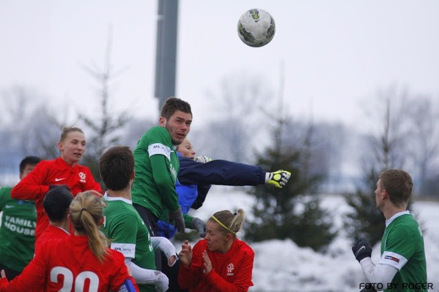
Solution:
M390 196L390 201L397 207L407 204L412 195L412 176L404 170L384 170L379 174L382 189Z

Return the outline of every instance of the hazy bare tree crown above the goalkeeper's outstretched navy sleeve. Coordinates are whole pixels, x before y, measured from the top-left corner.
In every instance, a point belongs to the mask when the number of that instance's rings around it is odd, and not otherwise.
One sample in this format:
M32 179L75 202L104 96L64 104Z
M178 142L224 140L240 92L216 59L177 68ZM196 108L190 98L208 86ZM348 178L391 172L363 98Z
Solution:
M208 98L221 116L192 132L195 148L214 158L250 163L255 140L267 130L260 109L272 107L270 88L256 76L239 75L224 79L220 93Z

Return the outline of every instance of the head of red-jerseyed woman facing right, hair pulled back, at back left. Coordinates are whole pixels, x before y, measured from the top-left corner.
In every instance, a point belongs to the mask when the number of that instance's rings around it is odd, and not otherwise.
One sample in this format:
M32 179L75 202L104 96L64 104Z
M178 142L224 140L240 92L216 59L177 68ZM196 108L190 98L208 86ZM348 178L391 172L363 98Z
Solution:
M78 131L68 133L64 141L58 142L61 158L69 165L75 165L85 153L85 144L83 133Z

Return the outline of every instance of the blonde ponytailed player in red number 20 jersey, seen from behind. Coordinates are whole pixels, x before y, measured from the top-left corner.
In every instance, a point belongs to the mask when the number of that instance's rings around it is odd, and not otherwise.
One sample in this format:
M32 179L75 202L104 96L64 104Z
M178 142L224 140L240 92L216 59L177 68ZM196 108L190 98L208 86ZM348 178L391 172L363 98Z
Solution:
M69 216L73 235L47 241L11 282L2 270L0 291L139 291L123 254L108 248L99 233L104 223L102 200L93 191L84 191L71 202ZM127 283L134 290L126 290Z

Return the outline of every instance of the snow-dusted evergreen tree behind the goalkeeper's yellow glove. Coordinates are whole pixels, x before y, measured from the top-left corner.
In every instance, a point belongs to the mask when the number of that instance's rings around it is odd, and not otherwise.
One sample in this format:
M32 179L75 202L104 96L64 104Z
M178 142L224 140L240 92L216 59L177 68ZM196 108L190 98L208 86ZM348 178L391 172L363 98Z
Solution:
M306 134L301 148L291 145L282 147L280 129L278 127L278 131L274 131L274 146L257 155L256 164L265 170L288 170L292 175L282 189L266 185L250 189L256 202L252 207L254 218L245 226L246 239L289 238L299 246L324 251L336 233L331 230L329 214L320 207L320 198L316 195L324 174L308 171L313 155L312 131Z

